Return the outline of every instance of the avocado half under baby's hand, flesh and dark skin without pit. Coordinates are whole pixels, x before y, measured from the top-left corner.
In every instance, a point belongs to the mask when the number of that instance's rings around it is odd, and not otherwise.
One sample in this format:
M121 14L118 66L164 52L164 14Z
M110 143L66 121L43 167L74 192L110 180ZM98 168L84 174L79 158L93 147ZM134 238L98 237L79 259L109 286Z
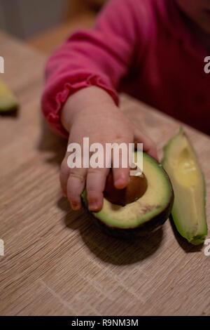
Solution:
M135 151L137 152L141 151ZM140 167L140 164L137 166ZM174 202L172 184L162 165L144 152L143 173L148 186L137 201L120 206L104 198L102 210L90 212L94 223L107 234L127 239L148 235L149 232L157 230L169 217ZM82 194L82 199L85 206L88 206L86 190Z

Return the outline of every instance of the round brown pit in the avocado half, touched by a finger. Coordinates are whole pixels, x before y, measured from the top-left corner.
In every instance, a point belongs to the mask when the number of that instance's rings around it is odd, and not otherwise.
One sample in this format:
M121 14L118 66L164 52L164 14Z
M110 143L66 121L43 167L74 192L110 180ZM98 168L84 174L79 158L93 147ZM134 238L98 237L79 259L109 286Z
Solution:
M125 206L127 204L136 202L144 195L148 187L146 176L141 173L141 176L130 176L127 187L117 189L113 183L112 171L106 178L106 187L104 190L104 197L112 204Z

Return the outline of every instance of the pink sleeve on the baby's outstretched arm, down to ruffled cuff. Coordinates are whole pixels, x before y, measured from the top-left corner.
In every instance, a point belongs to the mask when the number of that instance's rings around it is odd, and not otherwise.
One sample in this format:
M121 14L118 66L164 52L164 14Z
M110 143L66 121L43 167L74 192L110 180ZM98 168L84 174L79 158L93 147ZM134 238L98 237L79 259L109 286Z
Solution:
M138 40L134 4L134 0L109 1L92 30L74 33L48 60L42 110L63 136L68 133L60 121L62 105L80 88L104 88L118 105L120 79L130 69Z

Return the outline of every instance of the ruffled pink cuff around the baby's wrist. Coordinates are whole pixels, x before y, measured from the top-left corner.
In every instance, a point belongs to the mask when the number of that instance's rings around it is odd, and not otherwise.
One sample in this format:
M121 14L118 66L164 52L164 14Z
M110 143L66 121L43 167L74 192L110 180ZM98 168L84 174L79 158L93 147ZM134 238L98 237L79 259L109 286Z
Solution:
M82 78L82 79L81 79ZM89 86L98 86L103 88L113 101L118 105L119 99L116 91L111 88L102 77L99 77L95 74L90 74L87 77L73 77L73 81L59 81L59 83L52 86L46 86L45 91L42 96L42 110L45 119L50 124L53 131L63 136L64 138L69 137L69 133L65 130L64 126L62 126L61 122L61 111L64 103L67 98L76 91L79 91L82 88ZM62 86L62 88L59 88Z

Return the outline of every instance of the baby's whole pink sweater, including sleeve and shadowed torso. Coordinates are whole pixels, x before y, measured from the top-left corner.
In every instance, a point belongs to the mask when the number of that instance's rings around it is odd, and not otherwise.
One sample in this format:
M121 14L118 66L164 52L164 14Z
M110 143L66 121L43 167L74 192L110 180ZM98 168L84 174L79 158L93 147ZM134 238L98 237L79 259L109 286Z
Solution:
M112 0L94 28L80 30L48 60L43 114L55 131L62 105L86 86L118 91L210 133L210 54L193 36L175 0Z

